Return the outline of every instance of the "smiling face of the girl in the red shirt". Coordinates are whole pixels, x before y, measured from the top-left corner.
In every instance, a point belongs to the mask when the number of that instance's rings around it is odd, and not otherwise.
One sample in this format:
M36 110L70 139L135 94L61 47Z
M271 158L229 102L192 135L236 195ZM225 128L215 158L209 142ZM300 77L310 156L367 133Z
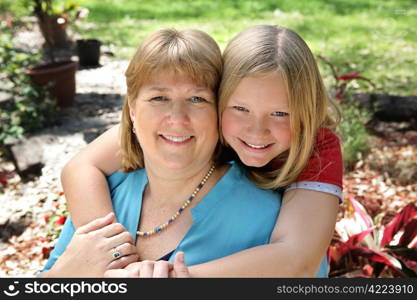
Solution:
M290 147L289 113L278 74L245 77L222 114L222 133L245 165L262 167Z

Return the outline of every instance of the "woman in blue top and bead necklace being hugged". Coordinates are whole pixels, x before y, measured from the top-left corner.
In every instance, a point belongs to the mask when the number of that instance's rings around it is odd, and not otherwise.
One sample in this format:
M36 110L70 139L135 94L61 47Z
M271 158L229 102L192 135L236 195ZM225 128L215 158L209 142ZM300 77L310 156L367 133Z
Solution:
M142 43L126 72L121 148L129 173L108 178L117 220L131 236L110 224L112 215L77 231L68 219L42 276L101 276L133 254L132 245L140 260L182 251L195 265L269 242L279 194L219 159L221 69L217 44L201 31L161 30Z

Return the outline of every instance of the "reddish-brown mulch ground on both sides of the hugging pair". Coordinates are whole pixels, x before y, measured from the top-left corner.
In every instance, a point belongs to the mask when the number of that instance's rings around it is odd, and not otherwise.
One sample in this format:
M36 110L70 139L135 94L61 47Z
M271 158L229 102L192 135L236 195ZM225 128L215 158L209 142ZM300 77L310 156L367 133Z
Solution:
M417 129L407 126L373 124L370 152L344 176L345 199L354 197L373 217L384 213L384 223L408 203L417 204ZM50 212L29 219L21 233L0 244L0 277L32 277L46 263L54 244L48 233L52 224L56 228L63 222L56 211L65 205L62 192L54 194L49 199ZM341 213L343 210L344 204Z

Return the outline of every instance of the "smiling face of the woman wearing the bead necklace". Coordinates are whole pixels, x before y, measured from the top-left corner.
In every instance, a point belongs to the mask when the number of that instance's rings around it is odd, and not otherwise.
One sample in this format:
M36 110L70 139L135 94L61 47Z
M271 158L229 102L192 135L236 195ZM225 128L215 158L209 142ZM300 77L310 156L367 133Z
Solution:
M215 95L187 75L152 76L130 115L147 168L201 169L211 161L218 141Z

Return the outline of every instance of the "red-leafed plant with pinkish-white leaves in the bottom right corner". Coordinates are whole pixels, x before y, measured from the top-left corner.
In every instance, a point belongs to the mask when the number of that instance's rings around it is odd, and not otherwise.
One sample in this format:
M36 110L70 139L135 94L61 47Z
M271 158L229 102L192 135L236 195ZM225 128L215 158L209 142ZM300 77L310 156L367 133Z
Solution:
M382 225L355 199L336 224L328 249L331 277L416 277L417 207L410 203Z

